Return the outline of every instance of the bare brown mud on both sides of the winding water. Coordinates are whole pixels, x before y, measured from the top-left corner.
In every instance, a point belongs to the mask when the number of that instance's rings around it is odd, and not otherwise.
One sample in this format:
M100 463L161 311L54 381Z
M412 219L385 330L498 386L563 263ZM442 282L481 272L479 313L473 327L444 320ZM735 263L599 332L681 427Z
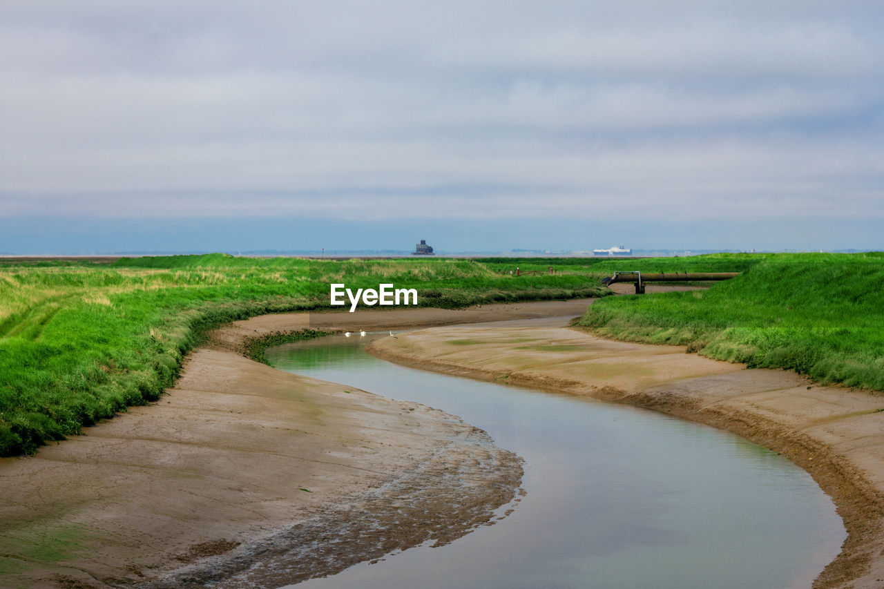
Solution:
M370 348L431 370L659 409L771 447L812 473L850 533L815 586L884 586L884 398L568 328L589 302L280 314L228 325L194 350L160 402L33 457L0 460L0 581L282 585L488 522L516 493L522 465L484 432L240 356L250 337L304 327L449 325L376 336ZM542 317L551 318L520 323ZM490 321L498 323L450 326ZM450 505L453 489L467 493L468 508Z

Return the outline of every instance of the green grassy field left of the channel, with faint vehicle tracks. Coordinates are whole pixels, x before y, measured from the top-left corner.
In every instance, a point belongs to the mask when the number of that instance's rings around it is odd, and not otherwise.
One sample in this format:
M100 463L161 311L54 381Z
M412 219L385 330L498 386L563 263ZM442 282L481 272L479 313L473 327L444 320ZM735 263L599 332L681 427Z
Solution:
M545 270L527 260L522 270ZM328 307L329 284L416 288L422 306L605 295L584 264L514 277L510 260L225 255L0 263L0 455L156 400L206 329Z

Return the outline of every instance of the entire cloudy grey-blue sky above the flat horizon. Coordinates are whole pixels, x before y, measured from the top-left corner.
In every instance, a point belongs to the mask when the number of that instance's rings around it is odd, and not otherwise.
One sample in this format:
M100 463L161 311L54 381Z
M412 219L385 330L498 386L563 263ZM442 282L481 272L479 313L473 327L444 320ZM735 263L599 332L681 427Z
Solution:
M0 11L0 252L884 249L880 0Z

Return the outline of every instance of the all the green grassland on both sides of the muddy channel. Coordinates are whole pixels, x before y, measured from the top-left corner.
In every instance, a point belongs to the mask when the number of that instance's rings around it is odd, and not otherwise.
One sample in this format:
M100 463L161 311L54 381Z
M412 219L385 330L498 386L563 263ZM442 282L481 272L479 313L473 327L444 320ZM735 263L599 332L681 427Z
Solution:
M516 267L540 273L516 277ZM884 254L6 261L0 455L33 452L156 400L205 330L268 312L327 308L332 282L389 282L416 288L422 306L456 308L605 295L599 279L618 270L743 274L703 292L609 297L581 321L595 333L884 391Z

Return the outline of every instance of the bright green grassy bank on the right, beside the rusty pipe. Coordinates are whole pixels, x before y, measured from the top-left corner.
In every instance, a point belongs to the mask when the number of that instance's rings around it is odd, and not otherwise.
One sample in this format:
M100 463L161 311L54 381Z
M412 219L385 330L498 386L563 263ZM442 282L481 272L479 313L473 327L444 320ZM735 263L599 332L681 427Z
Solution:
M719 360L884 391L884 254L734 261L748 263L743 275L706 291L612 297L580 323L605 337L685 345ZM643 264L647 272L665 267Z

